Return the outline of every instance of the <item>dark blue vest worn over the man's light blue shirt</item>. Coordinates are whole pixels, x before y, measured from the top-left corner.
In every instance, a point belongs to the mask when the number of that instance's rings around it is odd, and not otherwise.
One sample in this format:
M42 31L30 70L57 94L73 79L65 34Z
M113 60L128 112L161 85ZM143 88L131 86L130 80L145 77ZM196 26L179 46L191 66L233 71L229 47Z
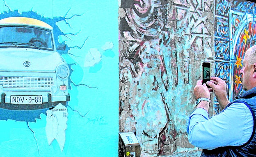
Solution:
M256 87L246 91L236 98L237 99L229 103L226 108L232 103L237 102L245 103L248 106L254 119L254 128L251 138L242 146L226 146L215 148L213 150L204 149L201 157L256 157Z

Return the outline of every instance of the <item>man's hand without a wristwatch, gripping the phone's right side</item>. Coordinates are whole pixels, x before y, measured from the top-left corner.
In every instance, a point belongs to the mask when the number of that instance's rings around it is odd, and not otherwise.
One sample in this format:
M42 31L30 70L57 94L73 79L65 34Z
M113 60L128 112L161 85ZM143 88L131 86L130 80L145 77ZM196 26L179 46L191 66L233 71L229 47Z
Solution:
M210 86L209 91L214 92L218 102L219 107L223 110L229 103L226 94L226 82L218 77L210 77L211 81L207 81L206 84Z

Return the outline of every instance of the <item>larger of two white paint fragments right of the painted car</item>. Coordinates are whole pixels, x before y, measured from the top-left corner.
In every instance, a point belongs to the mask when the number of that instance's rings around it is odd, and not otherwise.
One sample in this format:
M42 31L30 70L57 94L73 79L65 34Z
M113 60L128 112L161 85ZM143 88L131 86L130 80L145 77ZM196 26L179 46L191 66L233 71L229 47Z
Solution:
M90 49L85 56L84 67L91 67L101 61L101 53L98 49Z

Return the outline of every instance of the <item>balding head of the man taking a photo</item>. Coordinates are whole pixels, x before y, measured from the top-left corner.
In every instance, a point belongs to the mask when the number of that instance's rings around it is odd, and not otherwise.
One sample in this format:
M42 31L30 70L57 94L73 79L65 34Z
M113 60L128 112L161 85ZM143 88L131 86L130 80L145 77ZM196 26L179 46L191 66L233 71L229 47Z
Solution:
M244 90L250 90L256 87L256 45L250 47L245 52L243 67L240 73L242 74Z

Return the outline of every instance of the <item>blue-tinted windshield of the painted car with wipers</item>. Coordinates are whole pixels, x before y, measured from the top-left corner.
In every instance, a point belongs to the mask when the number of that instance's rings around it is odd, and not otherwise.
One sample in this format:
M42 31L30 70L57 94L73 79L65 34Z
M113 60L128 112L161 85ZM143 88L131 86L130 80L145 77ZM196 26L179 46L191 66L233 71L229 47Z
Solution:
M53 49L52 34L47 29L23 26L0 27L0 47Z

